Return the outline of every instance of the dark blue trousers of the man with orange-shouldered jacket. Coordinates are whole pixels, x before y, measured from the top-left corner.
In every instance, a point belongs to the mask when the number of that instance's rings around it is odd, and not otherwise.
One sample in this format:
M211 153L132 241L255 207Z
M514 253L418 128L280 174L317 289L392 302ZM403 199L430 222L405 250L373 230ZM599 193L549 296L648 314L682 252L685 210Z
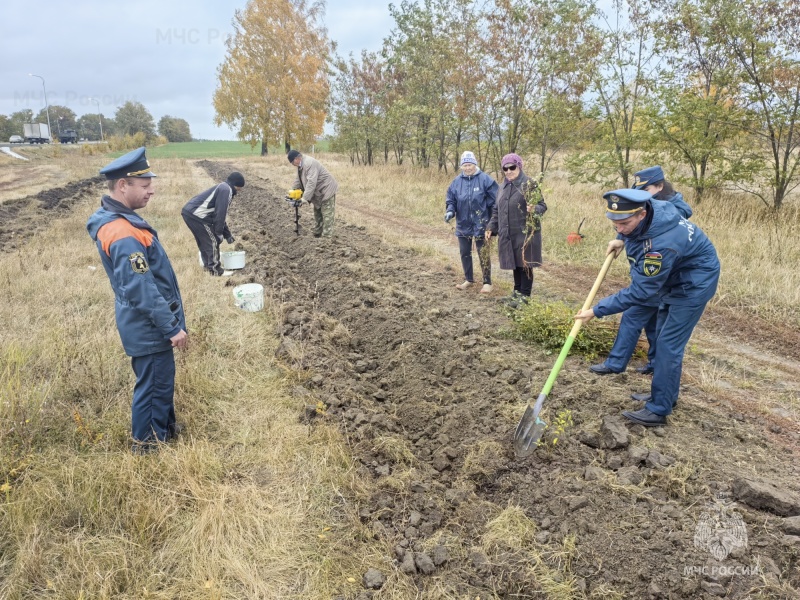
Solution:
M134 442L165 442L175 432L175 356L165 350L131 358L136 374L131 405Z

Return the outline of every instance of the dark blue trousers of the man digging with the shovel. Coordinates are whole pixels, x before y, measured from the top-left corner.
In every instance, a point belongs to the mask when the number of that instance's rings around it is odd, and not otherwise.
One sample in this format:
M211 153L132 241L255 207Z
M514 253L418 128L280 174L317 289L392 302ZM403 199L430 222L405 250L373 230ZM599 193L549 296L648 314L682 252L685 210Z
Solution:
M650 384L652 398L645 404L648 410L657 415L670 414L678 402L683 352L705 308L704 302L699 306L662 304L658 309L658 350L653 365L653 382Z

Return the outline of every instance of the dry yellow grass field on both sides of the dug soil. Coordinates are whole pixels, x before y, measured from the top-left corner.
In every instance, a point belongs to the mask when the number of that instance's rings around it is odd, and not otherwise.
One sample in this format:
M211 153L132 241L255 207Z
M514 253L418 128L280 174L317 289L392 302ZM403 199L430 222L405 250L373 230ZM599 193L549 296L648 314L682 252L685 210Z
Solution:
M216 144L220 149L196 154ZM180 147L180 158L158 154L171 147ZM187 434L157 455L128 452L133 375L112 292L85 231L96 200L53 221L23 250L0 256L0 319L13 324L0 329L0 598L355 597L366 568L391 555L364 530L351 502L367 482L344 438L335 427L298 422L303 404L292 390L308 374L273 358L279 307L238 311L224 282L197 265L180 208L213 182L189 157L227 158L286 187L294 176L281 155L224 148L248 149L203 142L148 150L159 178L143 216L176 268L192 336L191 351L179 359L176 397ZM30 163L0 162L0 203L95 175L108 161L41 152ZM371 215L384 223L377 236L390 242L408 242L415 231L409 243L430 252L438 243L431 231L452 242L442 223L452 173L320 159L339 180L342 206L350 207L340 215ZM600 190L554 172L545 197L546 261L598 268L612 237ZM798 327L796 203L780 218L739 197L694 208L693 220L723 262L714 302ZM583 217L586 239L568 246L567 234ZM404 228L393 224L401 221ZM625 276L624 261L614 269ZM348 539L358 553L342 543ZM381 597L414 598L415 590Z

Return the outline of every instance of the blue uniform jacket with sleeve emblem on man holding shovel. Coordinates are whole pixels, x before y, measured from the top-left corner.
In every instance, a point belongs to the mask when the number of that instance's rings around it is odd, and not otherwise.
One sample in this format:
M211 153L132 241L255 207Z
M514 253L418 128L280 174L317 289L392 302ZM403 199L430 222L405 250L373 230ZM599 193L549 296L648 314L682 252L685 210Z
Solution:
M649 201L647 216L623 236L631 263L631 284L594 306L597 317L631 306L700 306L717 291L720 264L705 233L669 202Z

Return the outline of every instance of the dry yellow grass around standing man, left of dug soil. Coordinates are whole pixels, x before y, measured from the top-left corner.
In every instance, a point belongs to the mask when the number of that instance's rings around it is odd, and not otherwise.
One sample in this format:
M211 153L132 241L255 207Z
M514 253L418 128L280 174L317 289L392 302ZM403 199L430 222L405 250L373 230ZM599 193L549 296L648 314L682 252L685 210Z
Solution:
M95 159L76 157L70 178L96 172ZM186 161L158 167L143 216L187 306L176 407L188 433L129 453L133 375L85 231L96 199L0 257L0 318L14 324L0 329L0 597L350 594L368 567L390 566L375 540L353 551L347 499L363 483L349 448L335 427L298 421L293 375L271 358L271 312L238 311L197 266L179 212L211 181ZM387 597L409 594L401 583Z

